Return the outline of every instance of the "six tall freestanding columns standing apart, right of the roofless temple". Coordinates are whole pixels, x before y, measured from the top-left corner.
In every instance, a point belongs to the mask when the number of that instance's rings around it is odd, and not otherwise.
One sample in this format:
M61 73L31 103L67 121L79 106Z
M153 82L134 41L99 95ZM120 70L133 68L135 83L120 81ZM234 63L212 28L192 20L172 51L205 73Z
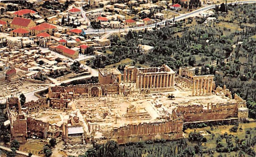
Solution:
M204 82L204 86L203 86L203 82ZM212 85L213 85L213 78L195 78L193 81L192 95L212 94ZM195 90L196 90L196 94L195 94Z

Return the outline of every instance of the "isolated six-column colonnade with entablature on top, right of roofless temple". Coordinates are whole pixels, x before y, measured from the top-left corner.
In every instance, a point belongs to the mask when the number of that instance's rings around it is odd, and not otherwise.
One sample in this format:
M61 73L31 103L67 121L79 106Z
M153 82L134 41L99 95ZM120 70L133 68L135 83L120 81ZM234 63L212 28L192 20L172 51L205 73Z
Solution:
M193 76L192 95L212 94L214 75Z

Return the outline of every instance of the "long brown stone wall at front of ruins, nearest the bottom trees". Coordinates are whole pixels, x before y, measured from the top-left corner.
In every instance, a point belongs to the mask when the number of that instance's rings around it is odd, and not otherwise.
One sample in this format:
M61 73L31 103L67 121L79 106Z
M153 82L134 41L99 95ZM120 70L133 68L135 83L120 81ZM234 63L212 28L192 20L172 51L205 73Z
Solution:
M113 130L112 139L117 143L138 142L156 139L182 138L183 121L178 118L165 122L129 124Z

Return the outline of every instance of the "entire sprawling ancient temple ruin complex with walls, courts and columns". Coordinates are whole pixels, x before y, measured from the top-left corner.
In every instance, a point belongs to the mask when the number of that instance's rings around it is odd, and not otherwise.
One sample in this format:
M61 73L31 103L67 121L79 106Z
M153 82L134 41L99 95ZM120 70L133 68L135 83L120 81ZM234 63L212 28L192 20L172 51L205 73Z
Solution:
M189 123L240 121L246 101L232 98L213 75L177 75L170 67L99 69L99 83L49 87L20 105L7 99L12 139L61 136L66 145L93 141L119 144L183 138ZM172 97L170 97L172 96Z

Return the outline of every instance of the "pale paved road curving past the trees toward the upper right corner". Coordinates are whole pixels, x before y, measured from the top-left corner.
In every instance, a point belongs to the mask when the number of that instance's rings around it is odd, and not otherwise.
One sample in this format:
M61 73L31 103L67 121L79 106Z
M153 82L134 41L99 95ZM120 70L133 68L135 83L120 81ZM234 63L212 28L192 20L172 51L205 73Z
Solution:
M256 1L243 1L243 2L233 2L232 4L245 4L245 3L256 3ZM228 3L228 4L231 4L231 3ZM214 5L209 5L209 6L206 6L206 7L203 7L203 8L199 8L193 12L188 12L186 14L183 14L183 15L180 15L180 16L177 16L175 17L175 21L179 21L179 20L183 20L183 19L186 19L188 17L195 17L195 16L198 16L200 12L204 12L206 10L210 10L212 8L215 7L215 4ZM172 20L172 19L167 19L167 20ZM160 24L163 24L165 20L161 21L161 22L158 22L157 25L160 25ZM143 26L143 27L133 27L133 28L129 28L129 29L132 29L132 30L140 30L140 29L145 29L145 28L153 28L155 27L155 24L152 24L152 25L148 25L148 26ZM108 33L108 32L111 32L111 33L117 33L117 32L123 32L126 28L120 28L120 29L108 29L108 30L104 30L104 29L99 29L99 32L98 30L94 30L94 29L87 29L85 30L85 33L86 34L98 34L98 33Z

